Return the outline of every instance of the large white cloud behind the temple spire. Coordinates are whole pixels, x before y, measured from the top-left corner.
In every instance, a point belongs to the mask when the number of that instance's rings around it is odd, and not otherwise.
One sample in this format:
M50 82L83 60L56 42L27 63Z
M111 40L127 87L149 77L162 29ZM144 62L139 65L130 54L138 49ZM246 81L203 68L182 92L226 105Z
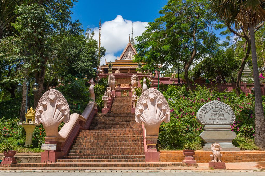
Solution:
M117 53L125 49L131 36L131 28L133 24L133 36L142 35L148 22L125 20L121 15L118 15L114 20L105 21L101 24L101 46L106 51L105 58L107 61L117 59ZM95 35L94 38L99 40L99 27L92 28ZM105 64L105 58L101 59L100 65Z

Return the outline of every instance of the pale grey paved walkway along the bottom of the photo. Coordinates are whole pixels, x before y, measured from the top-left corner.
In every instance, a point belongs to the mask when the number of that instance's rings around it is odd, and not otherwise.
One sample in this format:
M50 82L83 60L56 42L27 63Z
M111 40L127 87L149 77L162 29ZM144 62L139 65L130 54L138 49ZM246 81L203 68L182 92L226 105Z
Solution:
M61 175L61 176L79 176L79 175L89 175L89 176L173 176L173 175L183 175L183 176L264 176L265 170L82 170L82 171L63 171L63 170L9 170L0 171L0 175L18 175L19 176L50 176L50 175Z

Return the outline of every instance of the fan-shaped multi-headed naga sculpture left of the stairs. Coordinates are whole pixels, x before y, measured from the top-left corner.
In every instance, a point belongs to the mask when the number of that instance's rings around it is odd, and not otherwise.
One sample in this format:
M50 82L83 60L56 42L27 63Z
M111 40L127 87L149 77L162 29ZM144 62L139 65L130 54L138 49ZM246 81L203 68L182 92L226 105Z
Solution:
M45 92L36 108L35 122L42 123L46 137L61 138L58 127L61 122L68 123L70 108L63 94L55 89Z

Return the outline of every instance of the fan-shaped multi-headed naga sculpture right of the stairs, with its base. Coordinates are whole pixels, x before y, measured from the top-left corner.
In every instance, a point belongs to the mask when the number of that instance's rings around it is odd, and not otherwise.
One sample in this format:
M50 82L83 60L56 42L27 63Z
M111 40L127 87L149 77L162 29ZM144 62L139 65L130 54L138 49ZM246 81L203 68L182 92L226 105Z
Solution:
M159 127L170 121L169 104L157 89L147 89L139 97L135 107L135 121L143 122L149 151L156 151Z

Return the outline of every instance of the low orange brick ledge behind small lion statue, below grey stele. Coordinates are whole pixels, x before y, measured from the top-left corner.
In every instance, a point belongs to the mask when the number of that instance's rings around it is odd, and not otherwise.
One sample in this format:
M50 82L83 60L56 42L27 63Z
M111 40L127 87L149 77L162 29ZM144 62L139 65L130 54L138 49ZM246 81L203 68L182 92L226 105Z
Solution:
M208 163L211 151L196 150L195 160L197 163ZM222 161L225 163L260 162L265 161L265 151L221 151ZM183 151L160 151L160 162L182 162Z

